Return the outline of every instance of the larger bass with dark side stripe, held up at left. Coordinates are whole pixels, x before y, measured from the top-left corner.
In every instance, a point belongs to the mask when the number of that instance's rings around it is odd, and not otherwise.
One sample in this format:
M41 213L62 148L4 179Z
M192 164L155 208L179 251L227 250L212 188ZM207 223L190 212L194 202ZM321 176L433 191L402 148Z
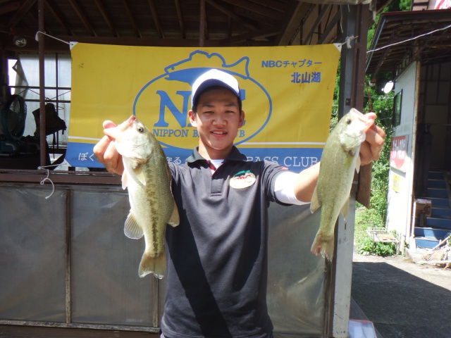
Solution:
M122 155L122 187L128 189L130 213L125 220L125 236L140 239L146 247L138 274L153 273L161 279L166 274L164 234L166 224L180 222L171 192L171 172L163 149L152 133L134 115L104 133L115 139Z

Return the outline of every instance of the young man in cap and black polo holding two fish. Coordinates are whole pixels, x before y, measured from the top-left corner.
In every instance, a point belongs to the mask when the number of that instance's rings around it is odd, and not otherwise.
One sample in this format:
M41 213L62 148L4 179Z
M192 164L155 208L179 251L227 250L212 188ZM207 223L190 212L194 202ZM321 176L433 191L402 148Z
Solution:
M220 70L194 82L189 117L199 146L183 165L170 163L180 225L166 230L163 336L272 337L266 308L268 205L308 203L319 163L295 174L276 163L246 161L233 146L245 120L240 89ZM373 125L361 146L363 164L379 157L384 139ZM112 141L101 139L94 154L109 172L121 174Z

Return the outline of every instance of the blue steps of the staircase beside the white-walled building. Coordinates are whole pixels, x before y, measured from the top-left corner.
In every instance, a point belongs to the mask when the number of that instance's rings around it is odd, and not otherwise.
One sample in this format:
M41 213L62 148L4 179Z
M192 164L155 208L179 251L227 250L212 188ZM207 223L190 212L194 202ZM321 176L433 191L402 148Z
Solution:
M415 218L415 244L418 248L433 248L451 234L451 177L442 171L428 173L427 196L432 202L431 217L426 217L424 226Z

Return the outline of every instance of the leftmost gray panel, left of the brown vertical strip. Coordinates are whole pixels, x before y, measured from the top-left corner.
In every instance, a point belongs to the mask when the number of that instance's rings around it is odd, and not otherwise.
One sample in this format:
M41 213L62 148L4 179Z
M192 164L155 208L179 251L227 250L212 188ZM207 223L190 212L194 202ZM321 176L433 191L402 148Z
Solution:
M0 187L0 318L66 321L64 194Z

